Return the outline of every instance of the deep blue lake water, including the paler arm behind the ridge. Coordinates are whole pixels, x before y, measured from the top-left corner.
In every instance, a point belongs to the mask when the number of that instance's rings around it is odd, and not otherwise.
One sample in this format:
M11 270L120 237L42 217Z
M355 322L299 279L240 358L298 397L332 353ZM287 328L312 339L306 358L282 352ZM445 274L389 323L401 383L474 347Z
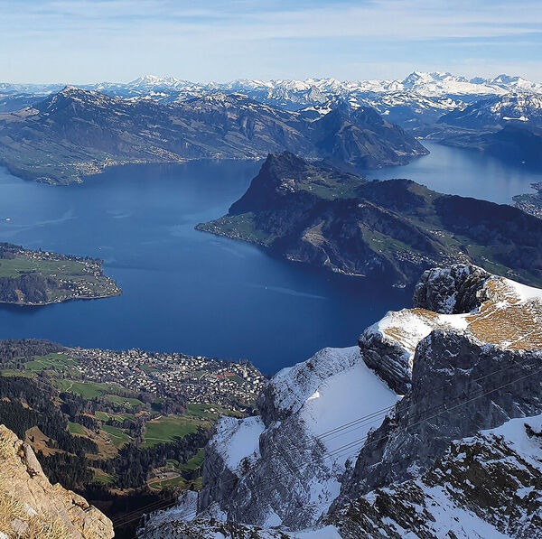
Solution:
M406 177L497 202L542 181L478 153L426 145L430 155L369 178ZM45 307L0 306L0 338L248 358L273 373L324 346L352 346L386 311L410 305L410 290L315 271L193 229L226 213L258 168L126 166L70 187L0 169L1 241L102 257L124 292Z

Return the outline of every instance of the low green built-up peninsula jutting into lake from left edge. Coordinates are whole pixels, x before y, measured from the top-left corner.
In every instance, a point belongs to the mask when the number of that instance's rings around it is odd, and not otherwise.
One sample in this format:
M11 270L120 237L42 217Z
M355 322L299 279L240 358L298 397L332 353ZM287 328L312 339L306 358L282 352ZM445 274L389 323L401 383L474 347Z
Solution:
M102 260L0 243L0 302L47 305L122 293Z

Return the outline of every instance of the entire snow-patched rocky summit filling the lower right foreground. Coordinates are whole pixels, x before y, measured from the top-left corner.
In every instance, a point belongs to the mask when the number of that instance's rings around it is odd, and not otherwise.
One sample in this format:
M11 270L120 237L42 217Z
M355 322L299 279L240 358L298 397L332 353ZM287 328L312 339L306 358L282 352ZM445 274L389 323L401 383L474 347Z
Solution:
M280 371L225 418L203 488L141 537L539 537L542 291L425 272L359 347Z

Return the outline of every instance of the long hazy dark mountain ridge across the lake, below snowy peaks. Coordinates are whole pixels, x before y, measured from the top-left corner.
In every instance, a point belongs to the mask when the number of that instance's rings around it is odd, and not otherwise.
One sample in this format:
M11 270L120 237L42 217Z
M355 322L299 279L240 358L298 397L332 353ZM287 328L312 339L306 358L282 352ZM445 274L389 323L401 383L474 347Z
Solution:
M285 149L373 168L427 153L374 111L361 115L343 105L334 116L338 123L328 125L326 116L309 118L238 94L167 105L67 87L0 114L0 163L24 178L70 183L111 164L257 159Z

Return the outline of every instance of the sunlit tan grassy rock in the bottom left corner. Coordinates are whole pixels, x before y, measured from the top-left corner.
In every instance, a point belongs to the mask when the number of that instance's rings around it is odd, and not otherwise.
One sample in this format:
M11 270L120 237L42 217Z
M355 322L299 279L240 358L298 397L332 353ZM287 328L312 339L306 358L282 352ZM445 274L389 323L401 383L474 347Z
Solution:
M113 524L85 498L51 485L27 443L0 425L0 537L111 539Z

